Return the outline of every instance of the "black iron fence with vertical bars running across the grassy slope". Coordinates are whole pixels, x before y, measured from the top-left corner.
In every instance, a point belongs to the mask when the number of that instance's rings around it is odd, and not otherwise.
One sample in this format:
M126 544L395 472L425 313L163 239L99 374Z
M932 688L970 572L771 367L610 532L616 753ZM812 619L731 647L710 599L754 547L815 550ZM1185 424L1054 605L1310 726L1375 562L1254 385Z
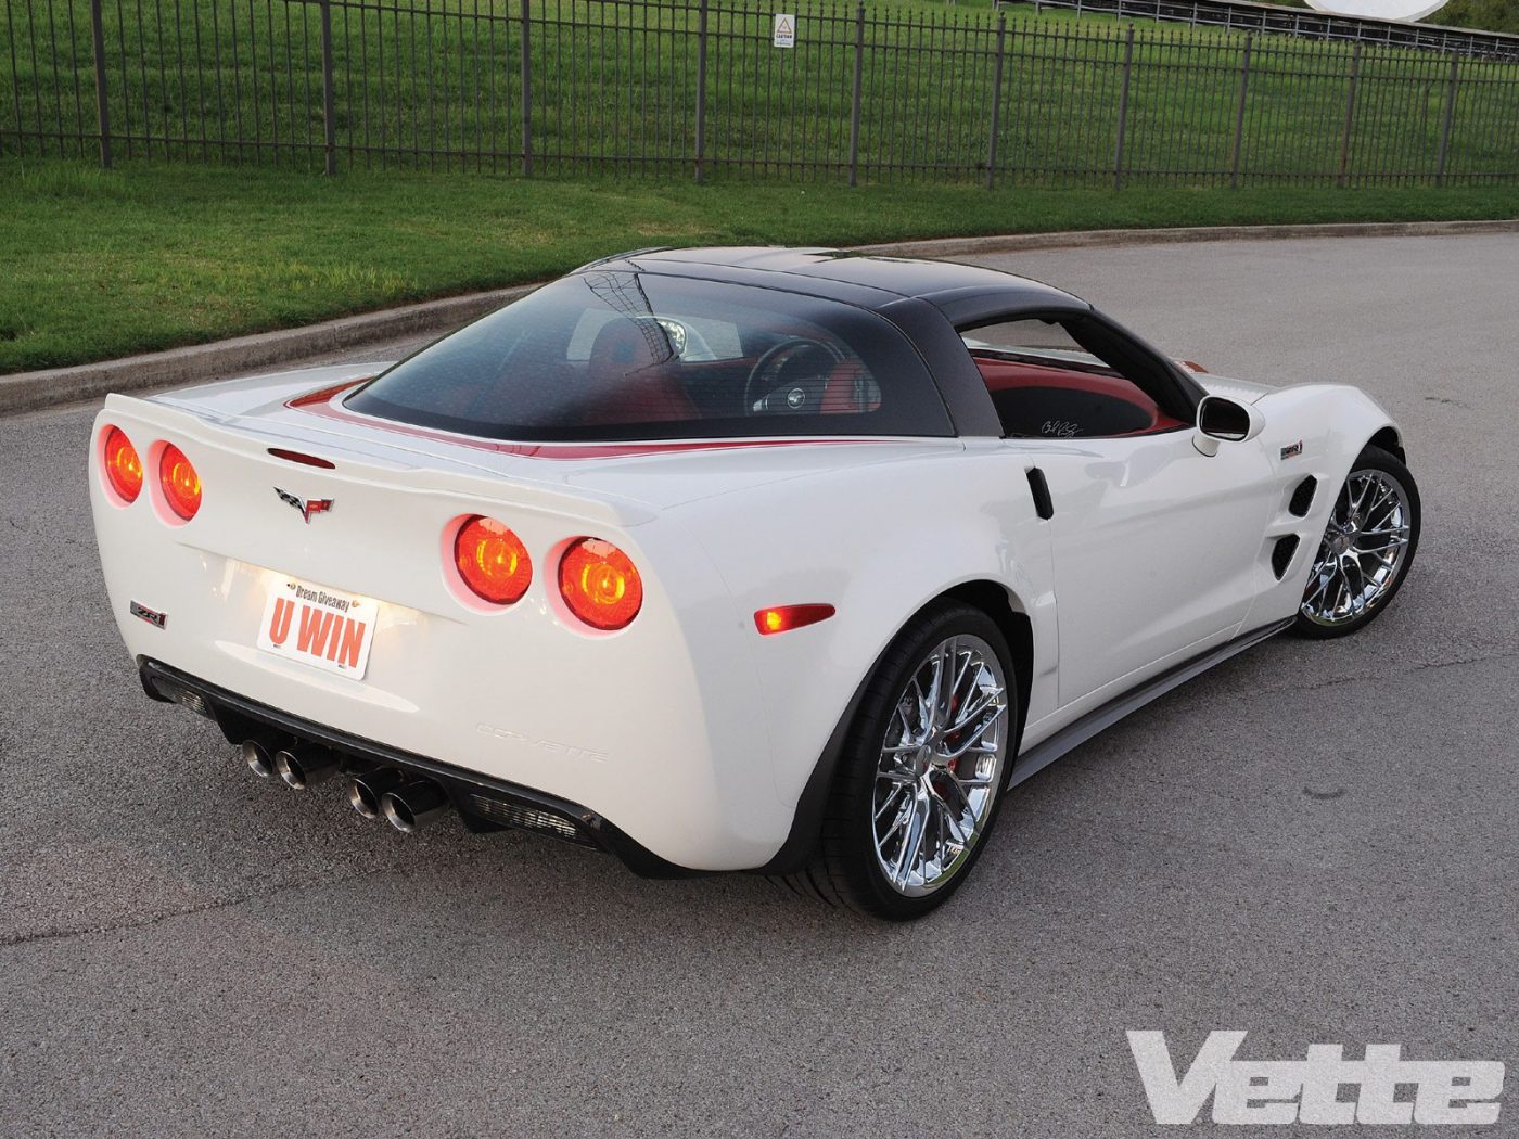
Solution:
M106 166L1519 181L1519 64L1457 52L794 0L6 0L0 36L0 150Z

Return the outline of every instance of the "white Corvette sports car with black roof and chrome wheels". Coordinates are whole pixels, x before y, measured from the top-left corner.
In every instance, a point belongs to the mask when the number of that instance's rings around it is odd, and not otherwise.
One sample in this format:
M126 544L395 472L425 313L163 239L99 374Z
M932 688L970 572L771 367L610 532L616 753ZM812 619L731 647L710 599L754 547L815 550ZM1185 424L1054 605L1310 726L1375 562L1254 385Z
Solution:
M115 395L91 466L143 686L258 775L892 919L1019 781L1363 627L1419 541L1353 387L826 249L639 251L393 366Z

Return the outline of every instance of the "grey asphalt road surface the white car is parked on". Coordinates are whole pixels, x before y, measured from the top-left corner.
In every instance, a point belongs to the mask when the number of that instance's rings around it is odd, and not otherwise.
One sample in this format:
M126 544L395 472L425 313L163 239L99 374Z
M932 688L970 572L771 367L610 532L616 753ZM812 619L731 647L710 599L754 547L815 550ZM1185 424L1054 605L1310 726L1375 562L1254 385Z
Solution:
M1513 1068L1519 237L990 263L1220 374L1364 386L1425 535L1366 633L1271 641L1019 787L907 928L255 781L137 686L93 409L0 419L0 1134L1176 1134L1130 1028L1179 1066L1243 1028Z

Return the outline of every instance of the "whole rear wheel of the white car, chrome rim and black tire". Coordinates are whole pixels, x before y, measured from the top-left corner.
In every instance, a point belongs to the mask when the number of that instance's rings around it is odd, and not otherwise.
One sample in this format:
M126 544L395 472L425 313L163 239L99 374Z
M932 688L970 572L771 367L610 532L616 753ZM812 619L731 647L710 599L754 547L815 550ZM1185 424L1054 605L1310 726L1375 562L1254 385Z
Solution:
M817 853L787 884L895 922L943 905L996 822L1016 702L1007 639L984 612L942 601L914 617L866 683Z

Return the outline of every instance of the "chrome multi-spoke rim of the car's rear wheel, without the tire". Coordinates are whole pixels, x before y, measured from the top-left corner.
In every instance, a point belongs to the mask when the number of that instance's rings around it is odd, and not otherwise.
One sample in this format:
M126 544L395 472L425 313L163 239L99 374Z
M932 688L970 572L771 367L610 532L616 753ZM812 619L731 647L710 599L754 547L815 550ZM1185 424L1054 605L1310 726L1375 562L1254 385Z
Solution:
M933 893L981 838L1007 761L1007 676L978 636L940 641L896 700L872 796L875 857L892 888Z

